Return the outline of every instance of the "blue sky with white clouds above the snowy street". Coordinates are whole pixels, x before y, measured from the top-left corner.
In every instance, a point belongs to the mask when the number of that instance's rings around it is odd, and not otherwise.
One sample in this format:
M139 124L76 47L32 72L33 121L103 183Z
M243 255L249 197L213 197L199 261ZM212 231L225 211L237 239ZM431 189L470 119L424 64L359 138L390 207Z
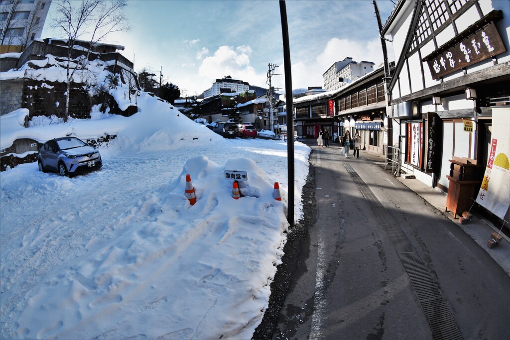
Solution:
M292 62L292 87L322 86L322 74L334 62L382 62L377 21L371 0L286 2ZM382 22L394 7L377 0ZM42 38L59 37L49 28ZM217 78L230 75L266 87L268 64L285 88L282 25L276 0L130 0L126 8L132 30L107 42L125 46L135 70L147 67L176 84L183 95L200 94Z

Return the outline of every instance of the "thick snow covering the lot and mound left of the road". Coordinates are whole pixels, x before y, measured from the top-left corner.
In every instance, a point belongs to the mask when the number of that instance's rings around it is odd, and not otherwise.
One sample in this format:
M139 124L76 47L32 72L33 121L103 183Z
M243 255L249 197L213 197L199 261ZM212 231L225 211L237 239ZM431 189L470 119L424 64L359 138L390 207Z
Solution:
M96 172L0 173L0 338L248 339L261 322L287 239L287 143L223 139L167 102L142 93L137 103L131 117L94 111L28 128L27 109L0 118L2 148L117 136ZM295 222L309 153L296 142ZM225 170L247 172L244 197L232 198Z

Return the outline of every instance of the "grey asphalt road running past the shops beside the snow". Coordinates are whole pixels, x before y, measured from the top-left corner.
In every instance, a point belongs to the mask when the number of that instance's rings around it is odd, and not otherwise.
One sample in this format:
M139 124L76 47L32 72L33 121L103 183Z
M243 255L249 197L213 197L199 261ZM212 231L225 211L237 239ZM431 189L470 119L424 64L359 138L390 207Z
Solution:
M380 155L346 160L313 142L317 217L287 249L296 267L273 338L507 338L510 277L487 252Z

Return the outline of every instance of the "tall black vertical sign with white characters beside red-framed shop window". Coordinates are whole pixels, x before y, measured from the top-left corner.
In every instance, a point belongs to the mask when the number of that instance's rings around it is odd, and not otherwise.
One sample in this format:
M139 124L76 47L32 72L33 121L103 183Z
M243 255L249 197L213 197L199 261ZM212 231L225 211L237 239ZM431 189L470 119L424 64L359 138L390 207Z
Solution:
M427 112L427 164L426 171L439 177L443 147L443 121L436 112Z

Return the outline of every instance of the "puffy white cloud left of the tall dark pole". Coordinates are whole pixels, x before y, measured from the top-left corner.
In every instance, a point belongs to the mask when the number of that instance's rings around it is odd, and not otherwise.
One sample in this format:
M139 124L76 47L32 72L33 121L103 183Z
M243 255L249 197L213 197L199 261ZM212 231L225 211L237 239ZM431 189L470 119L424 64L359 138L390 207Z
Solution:
M266 82L266 75L257 74L250 65L249 46L238 46L233 49L231 46L220 46L213 56L203 59L198 74L214 82L215 79L226 75L232 76L250 85L263 86Z

